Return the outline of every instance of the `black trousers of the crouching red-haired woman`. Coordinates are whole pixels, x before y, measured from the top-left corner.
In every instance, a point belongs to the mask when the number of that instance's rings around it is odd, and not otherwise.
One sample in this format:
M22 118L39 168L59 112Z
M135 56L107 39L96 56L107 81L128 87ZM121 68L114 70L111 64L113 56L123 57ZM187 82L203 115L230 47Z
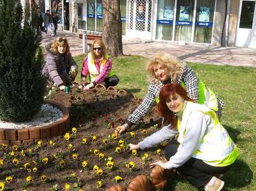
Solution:
M168 145L164 149L165 158L169 161L171 156L176 154L179 143L177 140L169 141ZM206 164L200 159L190 158L183 166L178 167L177 171L179 174L186 177L190 184L196 188L200 188L206 185L214 175L223 174L229 171L232 166L215 167Z

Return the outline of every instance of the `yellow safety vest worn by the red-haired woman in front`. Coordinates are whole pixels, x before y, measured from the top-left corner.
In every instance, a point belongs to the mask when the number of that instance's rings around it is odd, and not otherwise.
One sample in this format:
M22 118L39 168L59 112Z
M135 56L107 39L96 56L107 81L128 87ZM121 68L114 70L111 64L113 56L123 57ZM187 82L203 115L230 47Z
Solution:
M216 113L204 105L187 102L183 111L182 121L178 118L178 142L182 144L185 140L187 122L194 111L200 111L205 115L209 115L212 118L212 128L207 130L207 134L202 138L192 157L201 159L211 166L228 166L232 164L237 159L237 156L239 156L239 150L230 138L227 130L219 123Z

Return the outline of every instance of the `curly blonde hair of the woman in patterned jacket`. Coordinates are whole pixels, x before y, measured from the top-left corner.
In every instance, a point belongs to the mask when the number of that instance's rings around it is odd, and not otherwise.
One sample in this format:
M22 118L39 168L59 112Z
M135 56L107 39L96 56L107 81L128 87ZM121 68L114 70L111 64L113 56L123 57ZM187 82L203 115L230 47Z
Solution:
M158 82L159 79L156 78L154 74L154 66L161 64L164 68L168 68L171 82L176 82L179 75L183 73L186 63L179 61L173 55L164 52L156 53L149 61L146 66L146 71L148 72L148 79L150 82Z

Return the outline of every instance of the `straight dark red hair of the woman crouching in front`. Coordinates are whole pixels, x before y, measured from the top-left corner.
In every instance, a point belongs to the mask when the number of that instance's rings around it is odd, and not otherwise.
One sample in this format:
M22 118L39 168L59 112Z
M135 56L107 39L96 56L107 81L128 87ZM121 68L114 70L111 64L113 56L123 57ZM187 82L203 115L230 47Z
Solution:
M172 124L171 128L176 127L177 117L171 110L168 109L166 105L166 100L168 100L171 95L174 96L175 94L179 94L181 97L184 98L184 100L194 102L194 100L190 99L187 96L186 90L183 89L180 84L174 83L164 85L159 94L158 112L164 118L165 124Z

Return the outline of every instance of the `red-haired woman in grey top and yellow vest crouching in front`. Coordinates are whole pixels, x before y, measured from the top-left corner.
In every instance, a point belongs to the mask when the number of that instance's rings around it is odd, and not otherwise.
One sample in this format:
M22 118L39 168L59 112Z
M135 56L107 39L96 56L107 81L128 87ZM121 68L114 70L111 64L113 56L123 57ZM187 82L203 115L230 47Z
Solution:
M239 151L216 113L192 102L177 83L165 85L159 98L158 110L167 126L138 144L129 144L130 149L150 148L179 133L178 140L169 141L164 150L167 161L153 162L149 167L175 168L197 188L221 190L224 181L214 175L227 172Z

